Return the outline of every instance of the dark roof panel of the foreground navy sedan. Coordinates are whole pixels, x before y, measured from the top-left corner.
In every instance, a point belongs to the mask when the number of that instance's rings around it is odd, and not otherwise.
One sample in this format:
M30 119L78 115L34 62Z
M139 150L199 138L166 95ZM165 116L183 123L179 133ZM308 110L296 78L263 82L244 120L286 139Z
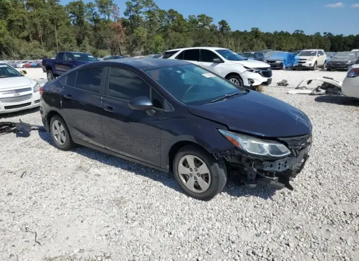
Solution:
M152 59L152 58L128 58L128 59L113 59L101 62L94 62L86 65L82 65L82 68L91 67L96 65L103 66L114 66L114 65L127 65L124 67L135 67L140 70L147 70L151 68L158 67L168 67L168 66L176 66L176 65L191 65L191 63L175 60L175 59Z

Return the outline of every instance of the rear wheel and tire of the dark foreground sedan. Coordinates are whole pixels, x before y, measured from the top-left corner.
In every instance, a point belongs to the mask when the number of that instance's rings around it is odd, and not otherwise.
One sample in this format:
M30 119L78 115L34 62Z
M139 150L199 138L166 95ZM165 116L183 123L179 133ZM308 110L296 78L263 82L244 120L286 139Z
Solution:
M59 123L60 123L60 128L59 128ZM71 139L67 125L59 115L54 115L54 117L51 118L50 132L52 139L55 143L55 147L57 147L58 149L63 151L68 151L74 147L74 143Z

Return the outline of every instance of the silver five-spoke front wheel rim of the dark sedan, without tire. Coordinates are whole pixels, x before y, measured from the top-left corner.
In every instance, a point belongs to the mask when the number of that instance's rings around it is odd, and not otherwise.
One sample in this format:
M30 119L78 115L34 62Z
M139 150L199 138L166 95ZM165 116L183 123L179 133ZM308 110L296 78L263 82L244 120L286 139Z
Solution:
M183 185L195 193L203 193L210 185L210 172L207 164L194 155L182 157L178 164L178 174Z

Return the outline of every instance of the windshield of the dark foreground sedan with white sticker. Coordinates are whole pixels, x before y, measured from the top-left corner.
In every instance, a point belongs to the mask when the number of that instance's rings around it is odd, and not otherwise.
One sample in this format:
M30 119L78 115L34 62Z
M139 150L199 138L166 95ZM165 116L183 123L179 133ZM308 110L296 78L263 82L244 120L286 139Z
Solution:
M246 89L200 68L196 65L160 67L146 71L159 85L187 105L207 104L211 100Z

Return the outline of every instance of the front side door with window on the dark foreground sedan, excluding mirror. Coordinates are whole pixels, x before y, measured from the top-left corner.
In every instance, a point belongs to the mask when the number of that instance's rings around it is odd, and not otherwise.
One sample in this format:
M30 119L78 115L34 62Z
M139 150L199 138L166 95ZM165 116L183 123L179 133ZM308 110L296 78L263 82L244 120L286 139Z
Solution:
M161 118L164 110L155 109L153 116L146 111L132 110L128 101L139 96L152 99L154 107L163 106L158 93L137 73L125 68L111 67L108 86L102 98L102 130L107 149L152 165L161 163ZM156 98L156 96L158 96Z

